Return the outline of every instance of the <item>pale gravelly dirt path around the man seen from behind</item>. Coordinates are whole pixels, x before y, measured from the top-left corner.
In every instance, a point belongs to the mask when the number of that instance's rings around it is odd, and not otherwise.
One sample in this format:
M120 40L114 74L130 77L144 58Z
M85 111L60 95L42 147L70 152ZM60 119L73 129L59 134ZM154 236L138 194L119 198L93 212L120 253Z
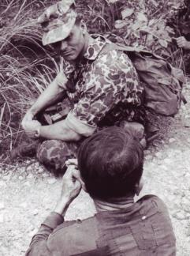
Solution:
M184 94L190 101L188 88ZM177 255L189 256L190 103L170 122L170 130L157 149L145 151L141 196L156 194L166 202L177 237ZM38 163L0 169L0 256L24 255L39 224L54 209L60 188L61 180L54 179ZM91 199L82 192L66 219L83 219L93 213Z

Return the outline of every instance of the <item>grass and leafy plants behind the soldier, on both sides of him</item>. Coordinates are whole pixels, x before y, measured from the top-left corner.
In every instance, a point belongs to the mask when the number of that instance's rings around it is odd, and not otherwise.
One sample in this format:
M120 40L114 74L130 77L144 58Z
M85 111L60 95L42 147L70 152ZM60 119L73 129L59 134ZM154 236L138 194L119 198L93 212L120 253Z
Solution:
M2 0L0 3L0 162L24 139L20 119L58 72L58 58L41 45L36 17L50 0ZM76 0L90 32L110 40L143 46L183 66L182 52L173 46L177 28L166 24L171 9L182 1ZM176 34L175 34L176 33Z

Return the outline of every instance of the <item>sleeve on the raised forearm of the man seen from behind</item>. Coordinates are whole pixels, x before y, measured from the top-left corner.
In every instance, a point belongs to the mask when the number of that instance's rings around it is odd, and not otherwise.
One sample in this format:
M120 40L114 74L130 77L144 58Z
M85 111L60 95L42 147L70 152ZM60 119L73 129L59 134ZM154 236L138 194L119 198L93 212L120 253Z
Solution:
M41 224L39 231L33 236L30 247L25 256L50 256L51 253L47 247L47 239L54 228L63 223L63 217L58 213L50 213L47 219Z

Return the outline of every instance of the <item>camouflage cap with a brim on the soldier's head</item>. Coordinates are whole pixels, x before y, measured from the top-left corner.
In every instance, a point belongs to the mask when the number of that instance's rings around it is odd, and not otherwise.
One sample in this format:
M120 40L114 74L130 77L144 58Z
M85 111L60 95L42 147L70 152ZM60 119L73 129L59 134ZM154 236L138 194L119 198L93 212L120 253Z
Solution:
M74 0L63 0L50 6L39 17L43 28L43 45L64 40L71 32L76 21L76 12L70 7Z

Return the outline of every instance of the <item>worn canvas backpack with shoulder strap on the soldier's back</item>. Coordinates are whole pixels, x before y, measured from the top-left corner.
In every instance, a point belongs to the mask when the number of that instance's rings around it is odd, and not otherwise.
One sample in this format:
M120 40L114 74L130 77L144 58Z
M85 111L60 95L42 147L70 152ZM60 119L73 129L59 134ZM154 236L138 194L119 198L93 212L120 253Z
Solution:
M181 101L187 103L182 95L185 81L182 70L174 68L162 57L141 48L108 43L102 52L111 50L124 51L131 59L144 88L145 107L156 114L172 116L179 111Z

